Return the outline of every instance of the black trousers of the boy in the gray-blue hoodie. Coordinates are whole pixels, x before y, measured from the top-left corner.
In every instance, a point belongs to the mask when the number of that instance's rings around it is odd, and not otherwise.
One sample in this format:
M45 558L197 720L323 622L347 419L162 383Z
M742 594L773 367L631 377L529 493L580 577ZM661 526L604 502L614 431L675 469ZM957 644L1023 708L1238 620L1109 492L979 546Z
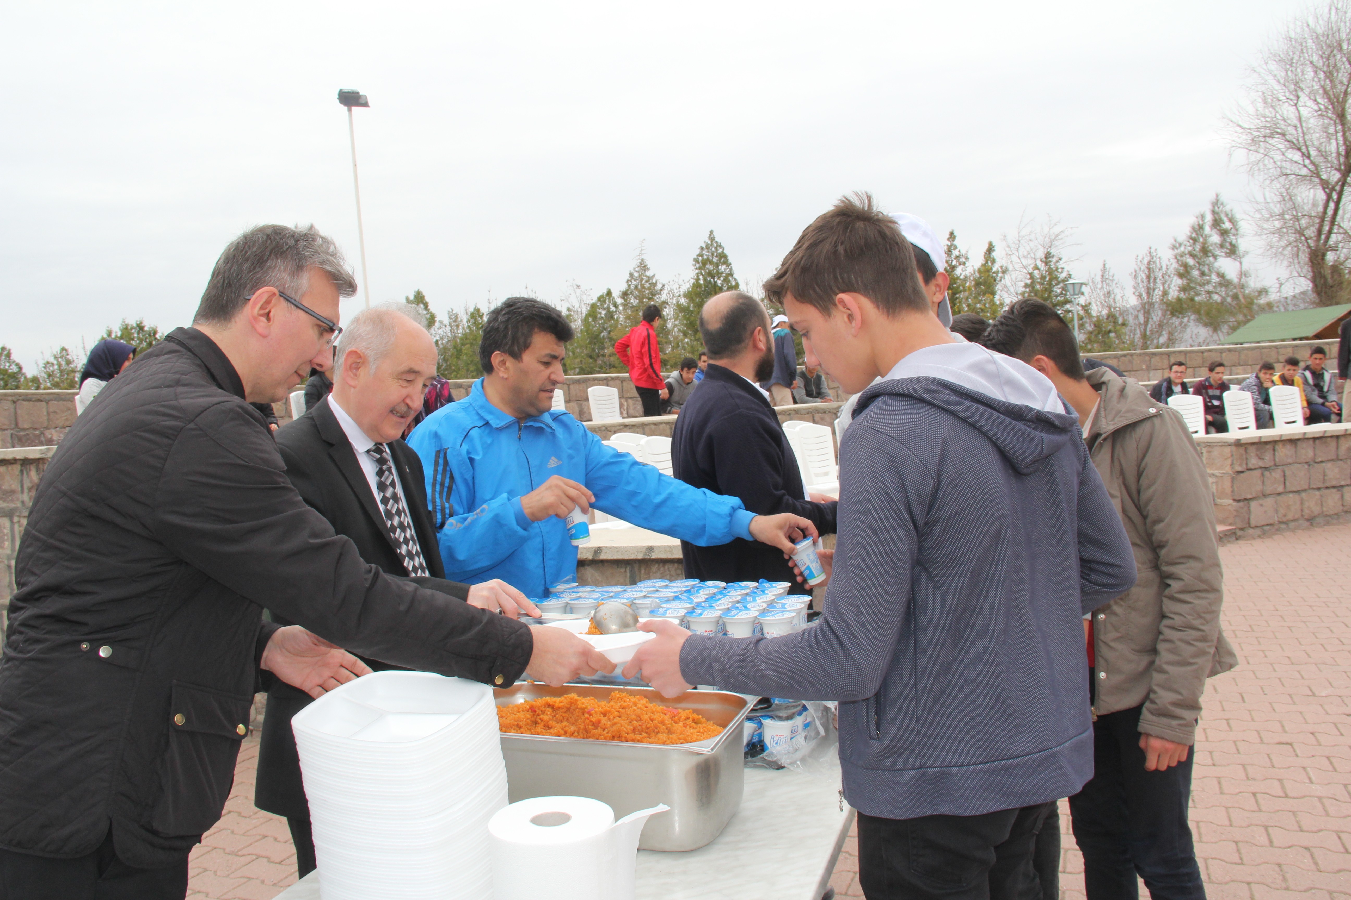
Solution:
M1038 834L1054 803L984 815L858 814L858 880L869 900L1042 900Z

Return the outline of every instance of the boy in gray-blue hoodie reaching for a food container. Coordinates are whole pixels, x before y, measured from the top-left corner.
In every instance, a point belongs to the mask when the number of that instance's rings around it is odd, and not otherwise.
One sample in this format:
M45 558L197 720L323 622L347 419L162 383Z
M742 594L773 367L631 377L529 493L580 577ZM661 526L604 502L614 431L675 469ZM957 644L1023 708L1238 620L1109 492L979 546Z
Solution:
M1034 368L948 335L866 194L812 223L765 289L862 391L824 615L744 640L646 622L657 638L624 675L666 696L839 700L870 899L1039 899L1046 803L1093 773L1082 615L1135 583L1078 422Z

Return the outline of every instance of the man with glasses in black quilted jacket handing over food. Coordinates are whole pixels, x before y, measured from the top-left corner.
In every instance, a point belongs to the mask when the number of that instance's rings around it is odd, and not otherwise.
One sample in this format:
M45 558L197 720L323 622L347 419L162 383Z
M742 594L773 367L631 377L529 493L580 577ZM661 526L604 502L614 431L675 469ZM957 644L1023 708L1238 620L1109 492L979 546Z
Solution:
M0 657L5 900L181 899L259 671L311 696L367 671L327 641L489 684L613 668L562 629L384 575L286 480L249 402L326 364L353 293L313 228L243 233L195 327L109 382L47 466Z

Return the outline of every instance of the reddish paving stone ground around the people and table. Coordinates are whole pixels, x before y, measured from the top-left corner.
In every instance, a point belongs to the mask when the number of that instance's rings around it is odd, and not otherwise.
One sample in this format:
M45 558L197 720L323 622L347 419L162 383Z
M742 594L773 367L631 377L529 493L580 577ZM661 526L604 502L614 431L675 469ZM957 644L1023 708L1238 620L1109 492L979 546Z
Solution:
M1197 734L1192 830L1206 892L1351 900L1351 525L1220 555L1224 630L1242 665L1210 680ZM192 855L189 897L269 900L295 881L286 823L253 807L257 754L250 735L226 816ZM1061 827L1061 896L1084 900L1063 803ZM863 896L852 835L831 884Z

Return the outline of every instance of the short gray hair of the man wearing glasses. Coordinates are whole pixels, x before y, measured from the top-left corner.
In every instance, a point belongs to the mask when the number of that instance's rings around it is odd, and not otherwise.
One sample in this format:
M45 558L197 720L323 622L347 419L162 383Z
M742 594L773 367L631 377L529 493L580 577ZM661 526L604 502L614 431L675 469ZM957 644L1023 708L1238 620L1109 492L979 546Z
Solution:
M332 239L313 225L258 225L230 242L201 294L195 325L231 321L259 287L276 287L295 300L309 287L309 269L327 274L339 297L357 293L357 279Z

